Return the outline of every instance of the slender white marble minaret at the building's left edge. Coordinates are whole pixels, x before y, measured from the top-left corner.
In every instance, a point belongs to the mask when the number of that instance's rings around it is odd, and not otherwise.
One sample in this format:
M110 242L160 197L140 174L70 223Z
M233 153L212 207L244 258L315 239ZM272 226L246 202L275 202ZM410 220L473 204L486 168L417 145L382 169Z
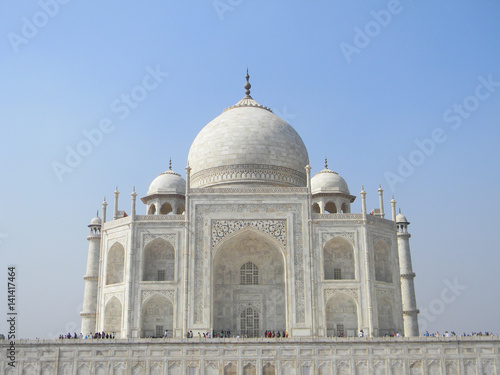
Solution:
M102 220L99 218L99 215L93 218L89 224L90 234L87 237L89 241L89 255L87 258L87 272L83 277L83 280L85 280L85 290L83 292L83 309L80 313L82 317L81 333L83 335L94 333L96 329L101 225Z

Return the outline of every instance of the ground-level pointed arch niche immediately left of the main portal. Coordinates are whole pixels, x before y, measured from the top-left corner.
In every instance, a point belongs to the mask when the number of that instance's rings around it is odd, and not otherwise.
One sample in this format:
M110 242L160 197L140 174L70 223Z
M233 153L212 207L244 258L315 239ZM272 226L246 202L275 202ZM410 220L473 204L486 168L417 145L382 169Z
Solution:
M141 337L163 337L165 330L172 335L173 328L172 301L159 293L146 299L141 311Z

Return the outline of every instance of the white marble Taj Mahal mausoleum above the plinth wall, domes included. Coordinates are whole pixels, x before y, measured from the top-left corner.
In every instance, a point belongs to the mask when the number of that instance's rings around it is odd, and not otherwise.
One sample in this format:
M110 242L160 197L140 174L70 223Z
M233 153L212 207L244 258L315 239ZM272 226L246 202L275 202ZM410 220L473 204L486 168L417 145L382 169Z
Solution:
M326 165L311 177L287 122L246 95L197 135L186 180L150 184L146 215L92 219L81 332L120 338L230 331L263 337L418 336L408 221L357 198ZM109 215L111 216L111 215Z

